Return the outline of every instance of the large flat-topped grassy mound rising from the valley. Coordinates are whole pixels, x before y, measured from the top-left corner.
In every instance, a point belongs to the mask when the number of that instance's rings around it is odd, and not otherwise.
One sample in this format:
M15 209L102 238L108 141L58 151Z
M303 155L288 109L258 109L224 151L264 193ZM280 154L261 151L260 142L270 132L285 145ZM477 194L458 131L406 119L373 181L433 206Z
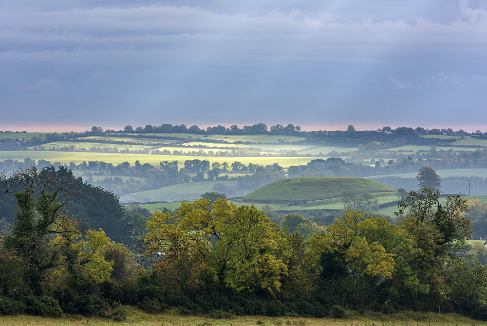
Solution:
M250 192L250 200L318 200L340 197L341 192L355 191L394 192L395 189L381 183L354 177L307 177L274 181Z

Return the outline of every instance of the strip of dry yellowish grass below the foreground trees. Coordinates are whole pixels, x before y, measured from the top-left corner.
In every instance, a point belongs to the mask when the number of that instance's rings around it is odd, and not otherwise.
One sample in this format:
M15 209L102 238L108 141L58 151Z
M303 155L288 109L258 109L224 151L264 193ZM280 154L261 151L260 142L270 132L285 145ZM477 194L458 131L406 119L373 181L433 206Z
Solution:
M231 319L213 319L205 316L181 316L175 310L164 314L151 315L134 307L125 307L127 320L112 322L66 315L53 319L37 316L0 317L0 325L348 325L348 326L379 326L379 325L486 325L485 322L472 320L458 314L416 313L402 311L394 314L365 311L358 313L349 311L342 319L303 318L303 317L266 317L266 316L235 316Z

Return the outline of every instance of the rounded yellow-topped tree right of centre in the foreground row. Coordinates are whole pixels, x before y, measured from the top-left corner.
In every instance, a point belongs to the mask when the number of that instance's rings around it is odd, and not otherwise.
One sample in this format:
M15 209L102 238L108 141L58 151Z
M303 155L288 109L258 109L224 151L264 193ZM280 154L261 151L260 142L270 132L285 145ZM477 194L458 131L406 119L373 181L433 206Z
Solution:
M373 305L371 291L392 278L401 249L387 219L349 210L308 240L306 254L318 291L331 302Z

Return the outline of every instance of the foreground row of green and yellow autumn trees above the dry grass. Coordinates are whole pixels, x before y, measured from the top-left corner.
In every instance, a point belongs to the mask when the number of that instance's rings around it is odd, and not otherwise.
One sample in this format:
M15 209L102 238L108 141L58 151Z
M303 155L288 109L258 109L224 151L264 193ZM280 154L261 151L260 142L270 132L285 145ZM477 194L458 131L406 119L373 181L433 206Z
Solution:
M471 223L460 197L441 203L438 192L409 192L394 224L348 210L325 227L299 215L276 224L225 199L184 202L149 217L137 264L130 249L83 228L67 209L76 187L66 173L31 167L1 180L16 201L0 237L2 315L122 321L123 304L213 318L407 309L487 319L486 250L466 253Z

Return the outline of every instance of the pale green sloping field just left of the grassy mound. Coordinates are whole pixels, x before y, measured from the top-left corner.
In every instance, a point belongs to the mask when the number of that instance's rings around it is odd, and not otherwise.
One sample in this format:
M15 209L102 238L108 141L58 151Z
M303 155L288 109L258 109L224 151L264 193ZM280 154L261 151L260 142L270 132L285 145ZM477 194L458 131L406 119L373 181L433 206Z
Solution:
M228 188L237 189L238 181L203 181L171 185L145 192L134 192L120 196L122 202L146 203L151 201L183 201L199 199L205 192L214 192L213 187L222 183Z

